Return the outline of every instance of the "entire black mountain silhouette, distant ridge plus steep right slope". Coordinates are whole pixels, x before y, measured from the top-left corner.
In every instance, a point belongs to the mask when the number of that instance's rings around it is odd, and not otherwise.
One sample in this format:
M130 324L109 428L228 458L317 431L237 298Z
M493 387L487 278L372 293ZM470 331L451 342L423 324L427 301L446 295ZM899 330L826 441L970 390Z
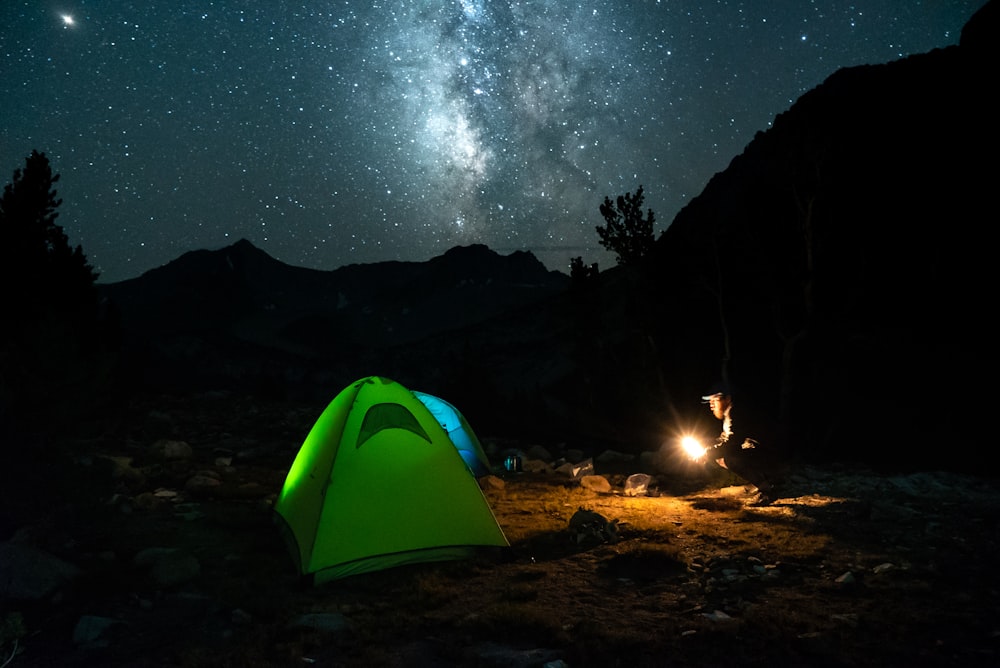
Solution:
M698 398L725 375L790 457L961 467L940 448L985 453L965 395L992 375L997 15L959 45L833 73L641 266L580 286L468 246L316 271L243 240L99 286L124 366L145 388L317 401L382 374L494 433L623 450L717 428Z

